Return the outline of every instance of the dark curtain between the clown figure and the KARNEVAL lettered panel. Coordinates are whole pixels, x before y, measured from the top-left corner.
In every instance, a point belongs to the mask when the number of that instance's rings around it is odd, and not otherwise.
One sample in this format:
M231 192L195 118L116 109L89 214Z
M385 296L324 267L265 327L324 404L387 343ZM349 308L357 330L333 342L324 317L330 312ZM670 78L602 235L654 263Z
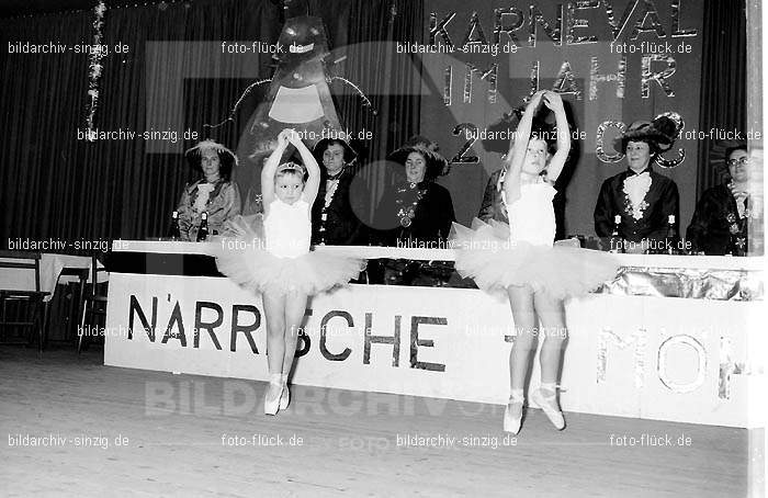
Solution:
M327 1L310 0L308 11L326 22L331 57L331 76L340 76L358 86L371 100L363 105L349 84L334 80L331 90L342 126L353 134L368 132L353 144L360 152L355 189L364 196L358 215L372 220L379 199L394 182L397 165L385 163L386 156L419 133L421 61L397 54L396 44L423 43L423 2L413 0L360 0L335 2L338 16L320 14ZM301 8L297 8L301 11ZM319 13L318 13L319 12ZM328 19L336 18L336 21ZM334 65L334 60L342 59ZM359 181L359 183L358 183Z

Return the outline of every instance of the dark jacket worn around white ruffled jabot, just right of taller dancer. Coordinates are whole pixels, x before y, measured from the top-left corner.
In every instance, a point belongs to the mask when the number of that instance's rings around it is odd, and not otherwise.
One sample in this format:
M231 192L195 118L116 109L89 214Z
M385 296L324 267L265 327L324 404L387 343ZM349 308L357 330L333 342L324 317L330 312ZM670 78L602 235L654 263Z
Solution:
M624 192L624 180L645 172L651 176L651 188L645 194L642 216L635 217ZM667 235L667 217L675 215L676 230L680 222L677 184L650 166L641 173L628 169L613 176L602 182L595 206L595 231L598 237L611 236L615 215L621 215L619 234L623 239L632 242L643 239L663 240Z

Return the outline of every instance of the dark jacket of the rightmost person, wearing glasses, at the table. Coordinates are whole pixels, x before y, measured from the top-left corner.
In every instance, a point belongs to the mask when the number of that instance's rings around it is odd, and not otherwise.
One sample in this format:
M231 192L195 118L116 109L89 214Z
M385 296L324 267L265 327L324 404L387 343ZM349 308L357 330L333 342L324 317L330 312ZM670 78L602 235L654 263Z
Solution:
M686 238L694 252L703 251L716 256L745 253L747 216L738 214L736 199L727 185L718 185L704 191L696 205Z

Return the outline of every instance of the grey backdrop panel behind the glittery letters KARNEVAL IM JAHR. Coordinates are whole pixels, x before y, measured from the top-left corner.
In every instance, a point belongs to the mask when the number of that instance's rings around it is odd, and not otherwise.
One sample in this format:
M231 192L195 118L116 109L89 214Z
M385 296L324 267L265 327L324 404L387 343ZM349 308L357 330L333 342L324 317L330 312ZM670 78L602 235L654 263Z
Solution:
M634 0L632 0L634 2ZM556 87L555 78L563 63L567 61L573 71L575 82L581 92L579 99L575 94L563 94L566 106L574 116L577 129L585 134L585 139L574 143L576 150L574 161L569 169L564 171L564 178L571 177L565 194L565 234L594 235L592 211L602 181L626 168L626 162L605 163L597 159L595 154L597 127L603 121L619 121L628 126L636 120L651 120L666 112L675 111L681 114L686 122L686 129L699 129L699 103L701 79L701 53L702 53L702 22L703 2L684 2L684 9L679 16L680 30L696 30L696 36L673 37L673 15L670 2L653 2L658 9L658 19L665 32L665 36L658 37L656 33L641 33L634 41L628 39L628 32L636 21L642 22L643 2L629 19L628 27L618 39L641 48L642 42L654 44L668 42L675 48L682 42L690 46L690 53L669 54L676 63L676 72L667 79L675 95L667 97L656 82L651 82L648 98L641 97L641 53L626 54L626 71L624 83L624 97L617 98L617 83L614 81L600 82L597 87L597 98L589 95L591 59L596 57L599 64L597 72L601 75L615 73L622 54L610 45L613 36L610 31L605 2L600 2L596 9L576 10L575 18L588 22L588 27L575 29L575 36L594 35L597 43L568 44L566 31L563 32L562 45L556 45L547 35L541 24L537 23L537 45L529 46L528 35L530 26L530 11L528 5L535 5L543 18L556 25L556 7L561 2L550 1L493 1L484 4L483 9L474 4L459 0L432 0L428 2L427 10L436 12L437 19L442 20L450 13L455 18L448 24L447 31L453 43L461 45L470 30L473 12L477 13L478 21L489 42L493 42L495 25L495 9L519 8L523 13L523 23L516 31L520 48L513 54L478 55L478 54L440 54L422 57L425 65L425 90L428 95L422 97L421 132L437 139L449 155L458 151L463 144L463 137L451 134L453 125L458 123L473 123L481 129L498 121L504 113L523 103L530 92L531 66L539 64L539 88L552 90ZM566 2L562 2L566 3ZM611 2L614 8L615 21L620 21L625 7L631 3L628 0ZM566 20L567 20L567 9ZM564 20L563 24L566 24ZM513 22L512 16L504 18L504 25L509 26ZM650 24L648 24L650 25ZM425 20L428 26L428 20ZM427 27L426 27L427 29ZM473 34L477 35L477 32ZM438 36L438 41L441 37ZM509 37L501 35L501 44L507 44ZM487 69L490 64L498 64L498 99L496 103L488 102L487 92L489 84L477 76L473 77L472 101L464 102L463 88L465 78L465 65L472 63L478 68ZM453 99L451 105L443 103L444 70L445 67L453 70ZM660 71L666 64L654 63L652 69ZM737 83L736 80L733 81ZM573 131L572 131L573 132ZM613 154L611 147L615 128L606 133L607 152ZM673 178L680 191L681 225L687 226L693 214L697 199L697 171L698 171L699 140L678 140L674 151L666 156L676 157L678 148L686 151L686 160L679 167L657 171ZM473 146L474 155L481 159L479 165L455 166L451 174L442 179L453 194L456 205L456 214L461 223L468 223L477 214L482 201L483 188L488 176L500 167L500 154L492 152L481 142Z

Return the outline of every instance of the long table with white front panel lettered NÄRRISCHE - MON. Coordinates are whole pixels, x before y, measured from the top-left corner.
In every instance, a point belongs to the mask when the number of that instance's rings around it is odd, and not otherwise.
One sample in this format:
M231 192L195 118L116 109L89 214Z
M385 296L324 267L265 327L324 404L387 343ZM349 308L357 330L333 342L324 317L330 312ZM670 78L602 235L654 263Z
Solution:
M372 260L454 259L450 249L315 250ZM211 253L206 244L114 242L105 364L234 377L225 387L235 391L241 380L267 380L261 299L221 275ZM563 409L757 426L766 387L764 259L618 258L623 268L613 282L566 303ZM415 403L432 410L444 407L432 398L507 401L515 333L504 298L477 288L352 284L313 297L307 307L292 383L355 392L350 404L315 389L338 415L381 408L370 406L381 403L366 397L371 392L418 396ZM538 369L533 362L531 388ZM179 383L151 387L148 409L190 396ZM206 409L238 414L242 407L233 399Z

